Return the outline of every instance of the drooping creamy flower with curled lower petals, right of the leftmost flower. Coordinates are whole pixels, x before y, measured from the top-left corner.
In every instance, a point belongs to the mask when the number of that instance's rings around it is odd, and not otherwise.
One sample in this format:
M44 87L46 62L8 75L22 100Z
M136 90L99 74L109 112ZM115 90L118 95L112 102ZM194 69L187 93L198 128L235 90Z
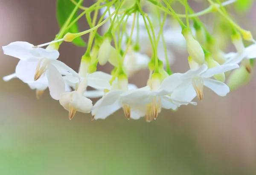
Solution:
M111 89L109 81L111 75L104 72L94 72L88 74L87 77L74 77L72 75L64 76L67 84L74 89L73 92L62 93L60 104L69 111L69 119L71 120L76 112L90 113L93 105L89 98L102 97L104 89ZM87 86L91 86L98 90L87 91Z

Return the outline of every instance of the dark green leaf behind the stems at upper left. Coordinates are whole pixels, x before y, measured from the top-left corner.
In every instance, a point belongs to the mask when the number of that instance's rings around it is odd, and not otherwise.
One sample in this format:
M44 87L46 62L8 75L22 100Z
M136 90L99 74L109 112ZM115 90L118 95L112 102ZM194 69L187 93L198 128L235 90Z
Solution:
M75 0L78 2L78 0ZM75 4L72 3L70 0L57 0L57 20L60 28L64 25L70 14L72 13L73 9L75 8ZM71 22L76 19L78 14L78 10L74 14ZM73 26L70 27L68 31L70 33L79 33L78 23L74 23ZM81 37L77 37L72 41L76 46L84 47L86 46L86 43Z

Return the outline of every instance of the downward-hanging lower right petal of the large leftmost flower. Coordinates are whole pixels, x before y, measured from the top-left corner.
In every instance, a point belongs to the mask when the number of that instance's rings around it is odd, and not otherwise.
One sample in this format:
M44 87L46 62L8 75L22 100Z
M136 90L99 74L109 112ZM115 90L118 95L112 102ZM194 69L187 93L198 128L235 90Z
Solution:
M48 78L50 95L53 99L58 100L61 93L65 92L65 82L55 66L49 65L46 75Z

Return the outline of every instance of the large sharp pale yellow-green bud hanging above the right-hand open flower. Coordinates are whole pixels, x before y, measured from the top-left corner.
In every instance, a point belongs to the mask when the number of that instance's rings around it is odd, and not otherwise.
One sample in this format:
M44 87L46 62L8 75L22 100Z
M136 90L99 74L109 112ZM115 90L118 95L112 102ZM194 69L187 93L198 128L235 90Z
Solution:
M194 39L189 29L183 29L182 34L187 42L187 50L189 52L189 56L199 65L204 64L204 51L201 45L197 40Z

